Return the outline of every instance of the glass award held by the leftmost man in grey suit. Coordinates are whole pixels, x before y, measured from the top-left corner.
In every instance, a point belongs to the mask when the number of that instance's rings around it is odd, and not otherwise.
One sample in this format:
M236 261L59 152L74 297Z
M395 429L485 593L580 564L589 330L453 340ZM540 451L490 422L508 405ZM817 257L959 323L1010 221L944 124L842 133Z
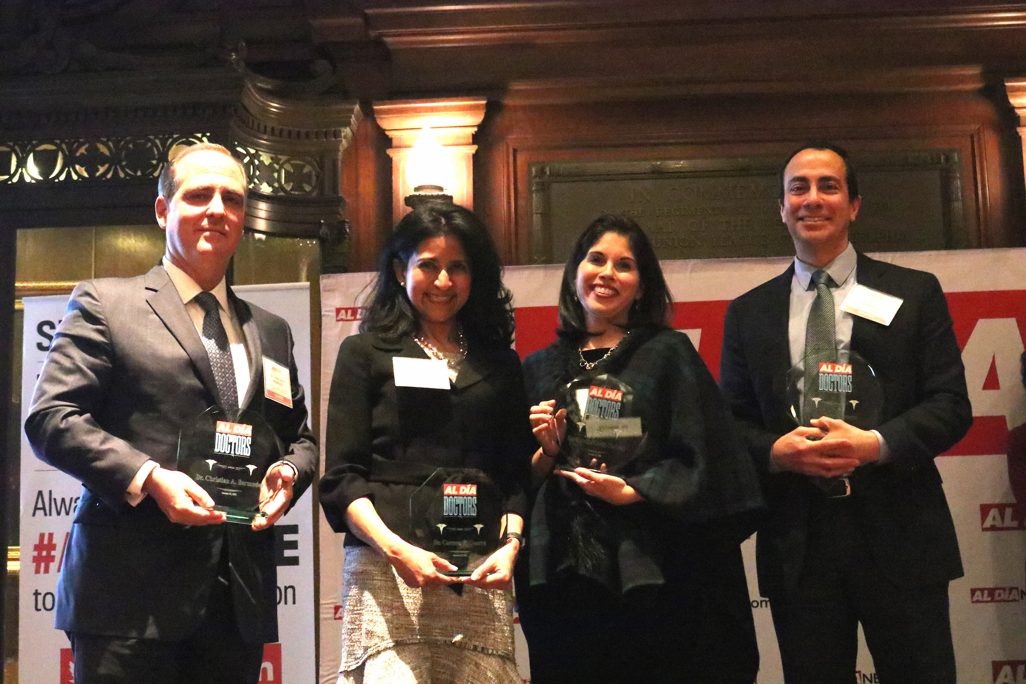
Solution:
M206 490L214 510L223 510L229 523L249 525L265 517L260 486L271 464L281 459L281 443L254 411L229 418L215 406L182 428L177 468Z

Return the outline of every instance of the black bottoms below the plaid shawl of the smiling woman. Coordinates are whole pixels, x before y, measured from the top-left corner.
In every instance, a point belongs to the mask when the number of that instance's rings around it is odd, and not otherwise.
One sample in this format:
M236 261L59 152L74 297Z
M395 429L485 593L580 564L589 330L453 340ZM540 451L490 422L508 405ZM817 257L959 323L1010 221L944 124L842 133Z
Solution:
M531 683L752 684L759 656L741 549L675 549L666 567L665 584L626 598L584 578L521 581Z

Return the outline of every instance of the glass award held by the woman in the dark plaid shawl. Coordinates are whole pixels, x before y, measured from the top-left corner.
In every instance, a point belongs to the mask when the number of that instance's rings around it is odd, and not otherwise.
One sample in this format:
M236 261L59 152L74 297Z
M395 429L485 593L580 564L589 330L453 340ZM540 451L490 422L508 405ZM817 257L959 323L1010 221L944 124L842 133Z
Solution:
M566 409L566 447L555 467L589 468L615 473L632 460L644 444L641 418L634 415L634 390L605 373L585 374L563 389L557 402Z

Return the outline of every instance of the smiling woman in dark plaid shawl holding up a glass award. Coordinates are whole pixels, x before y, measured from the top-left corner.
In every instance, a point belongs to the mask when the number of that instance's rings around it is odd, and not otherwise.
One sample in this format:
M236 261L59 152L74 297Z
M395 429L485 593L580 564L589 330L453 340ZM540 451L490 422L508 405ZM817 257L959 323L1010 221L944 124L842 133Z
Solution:
M517 568L535 684L755 680L739 545L754 530L758 482L715 381L668 327L672 306L637 224L600 217L566 263L559 339L524 360L542 445ZM583 394L566 391L576 380ZM641 419L643 442L615 471L566 464L560 407L580 402L583 423L595 386L624 391L604 392L622 406L603 415Z

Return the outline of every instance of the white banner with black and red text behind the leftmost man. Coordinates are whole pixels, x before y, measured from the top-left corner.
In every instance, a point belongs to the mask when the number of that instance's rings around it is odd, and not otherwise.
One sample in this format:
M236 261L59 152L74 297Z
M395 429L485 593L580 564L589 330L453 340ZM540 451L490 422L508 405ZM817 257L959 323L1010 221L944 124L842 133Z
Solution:
M242 286L234 290L243 299L288 321L300 383L309 402L309 283ZM23 423L68 297L26 297L24 301ZM24 433L21 473L18 680L23 684L73 684L71 649L64 633L53 629L53 608L57 574L82 487L77 480L38 460ZM308 684L315 678L312 501L310 494L305 495L275 525L281 641L264 649L262 684Z

